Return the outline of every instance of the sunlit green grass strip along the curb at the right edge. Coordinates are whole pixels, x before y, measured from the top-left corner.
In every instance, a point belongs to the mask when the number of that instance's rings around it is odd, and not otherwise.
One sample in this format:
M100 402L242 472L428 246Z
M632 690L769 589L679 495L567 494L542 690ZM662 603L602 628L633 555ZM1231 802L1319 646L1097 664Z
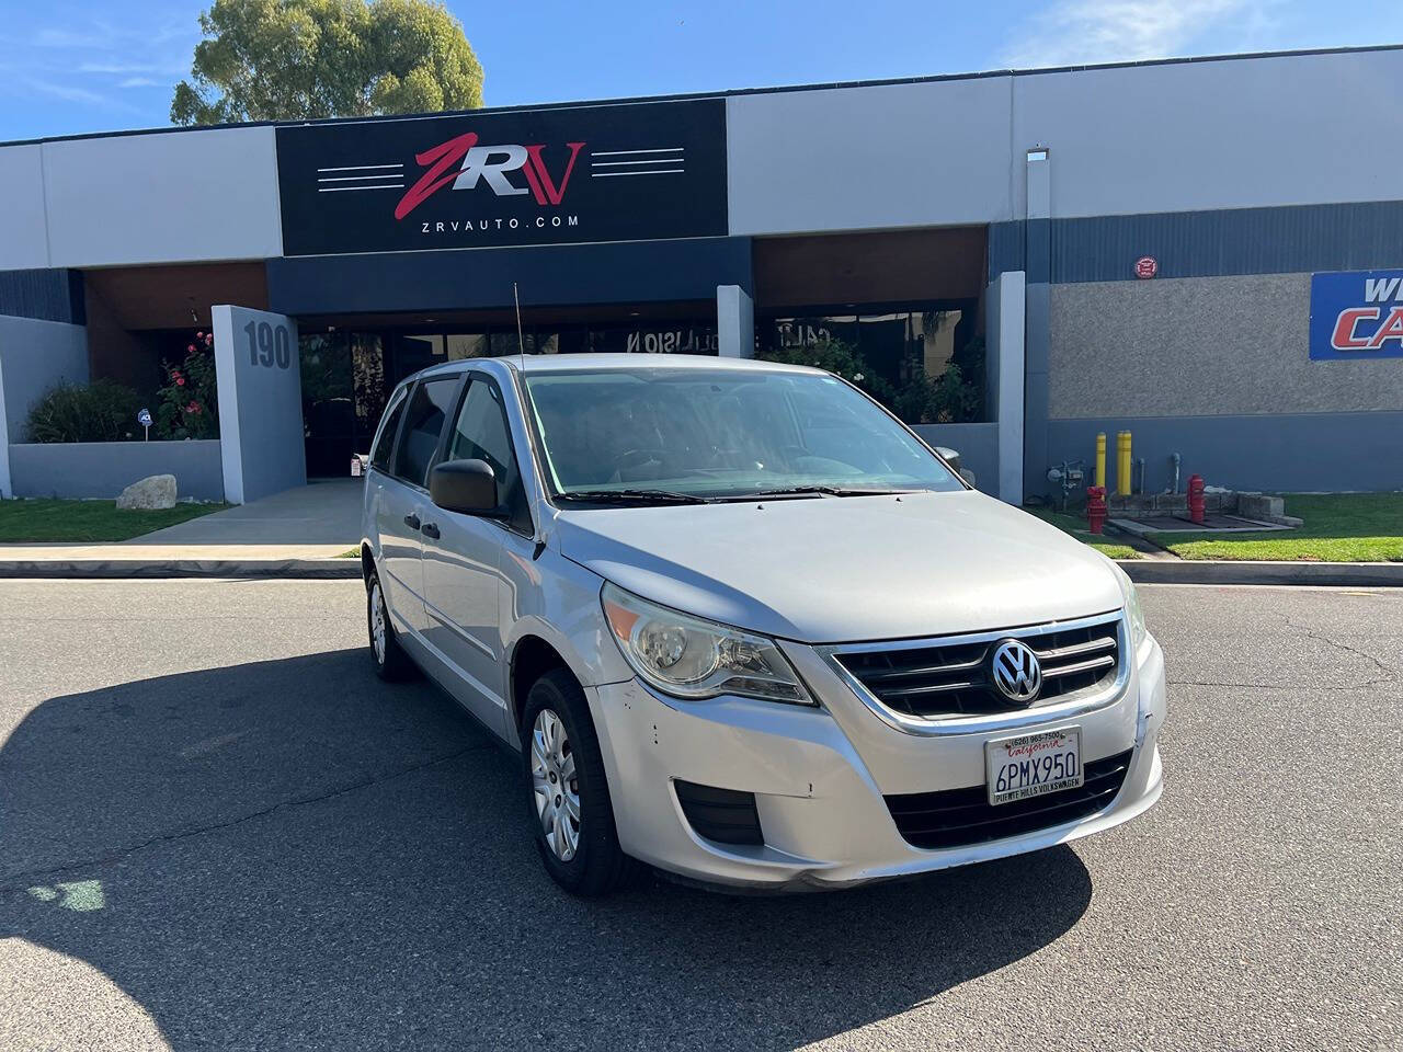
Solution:
M1156 533L1180 558L1306 562L1403 562L1403 494L1285 494L1287 515L1305 519L1281 533Z

